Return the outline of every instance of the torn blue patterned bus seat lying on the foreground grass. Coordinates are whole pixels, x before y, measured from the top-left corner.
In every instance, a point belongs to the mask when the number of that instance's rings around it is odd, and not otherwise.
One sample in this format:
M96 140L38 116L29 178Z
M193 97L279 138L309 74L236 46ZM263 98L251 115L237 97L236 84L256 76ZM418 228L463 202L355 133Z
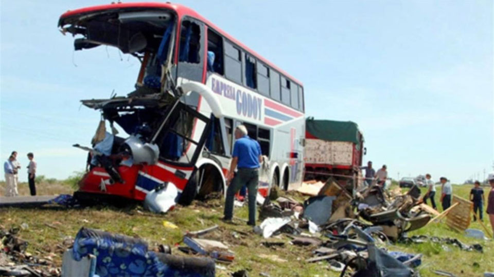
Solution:
M74 260L96 256L96 274L104 276L214 276L214 263L207 268L177 266L148 251L146 242L130 236L81 228L74 241ZM191 269L193 268L193 270Z

